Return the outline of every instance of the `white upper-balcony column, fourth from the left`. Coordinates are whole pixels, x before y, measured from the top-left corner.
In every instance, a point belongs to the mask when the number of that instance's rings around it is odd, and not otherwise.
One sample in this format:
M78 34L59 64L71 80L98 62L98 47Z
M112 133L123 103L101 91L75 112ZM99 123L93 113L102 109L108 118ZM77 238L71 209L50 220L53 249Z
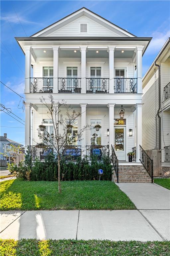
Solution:
M115 46L108 46L108 52L109 52L109 93L114 93L114 51L115 51Z

